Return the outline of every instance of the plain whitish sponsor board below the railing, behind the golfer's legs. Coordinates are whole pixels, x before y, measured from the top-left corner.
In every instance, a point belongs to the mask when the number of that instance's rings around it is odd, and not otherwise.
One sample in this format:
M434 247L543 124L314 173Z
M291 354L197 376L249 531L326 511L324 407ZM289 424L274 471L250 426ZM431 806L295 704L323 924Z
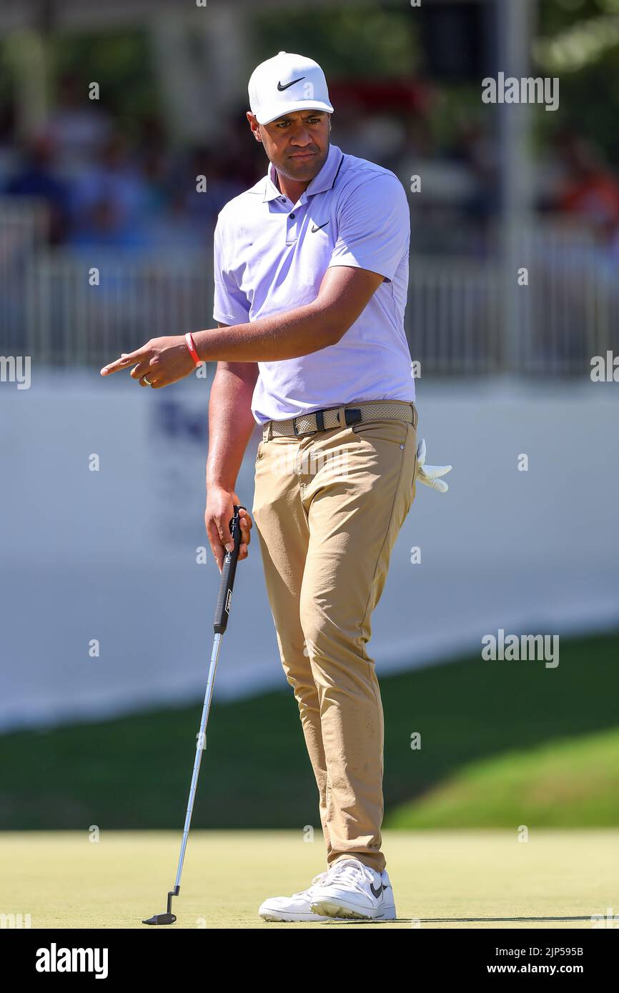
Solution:
M417 488L393 549L369 645L379 673L479 653L499 629L617 623L618 389L423 381L418 436L429 463L454 468L448 494ZM220 582L210 551L196 560L208 400L193 377L150 391L36 366L30 389L0 386L0 728L204 693ZM257 436L236 486L248 508ZM287 683L254 532L215 693L273 687Z

